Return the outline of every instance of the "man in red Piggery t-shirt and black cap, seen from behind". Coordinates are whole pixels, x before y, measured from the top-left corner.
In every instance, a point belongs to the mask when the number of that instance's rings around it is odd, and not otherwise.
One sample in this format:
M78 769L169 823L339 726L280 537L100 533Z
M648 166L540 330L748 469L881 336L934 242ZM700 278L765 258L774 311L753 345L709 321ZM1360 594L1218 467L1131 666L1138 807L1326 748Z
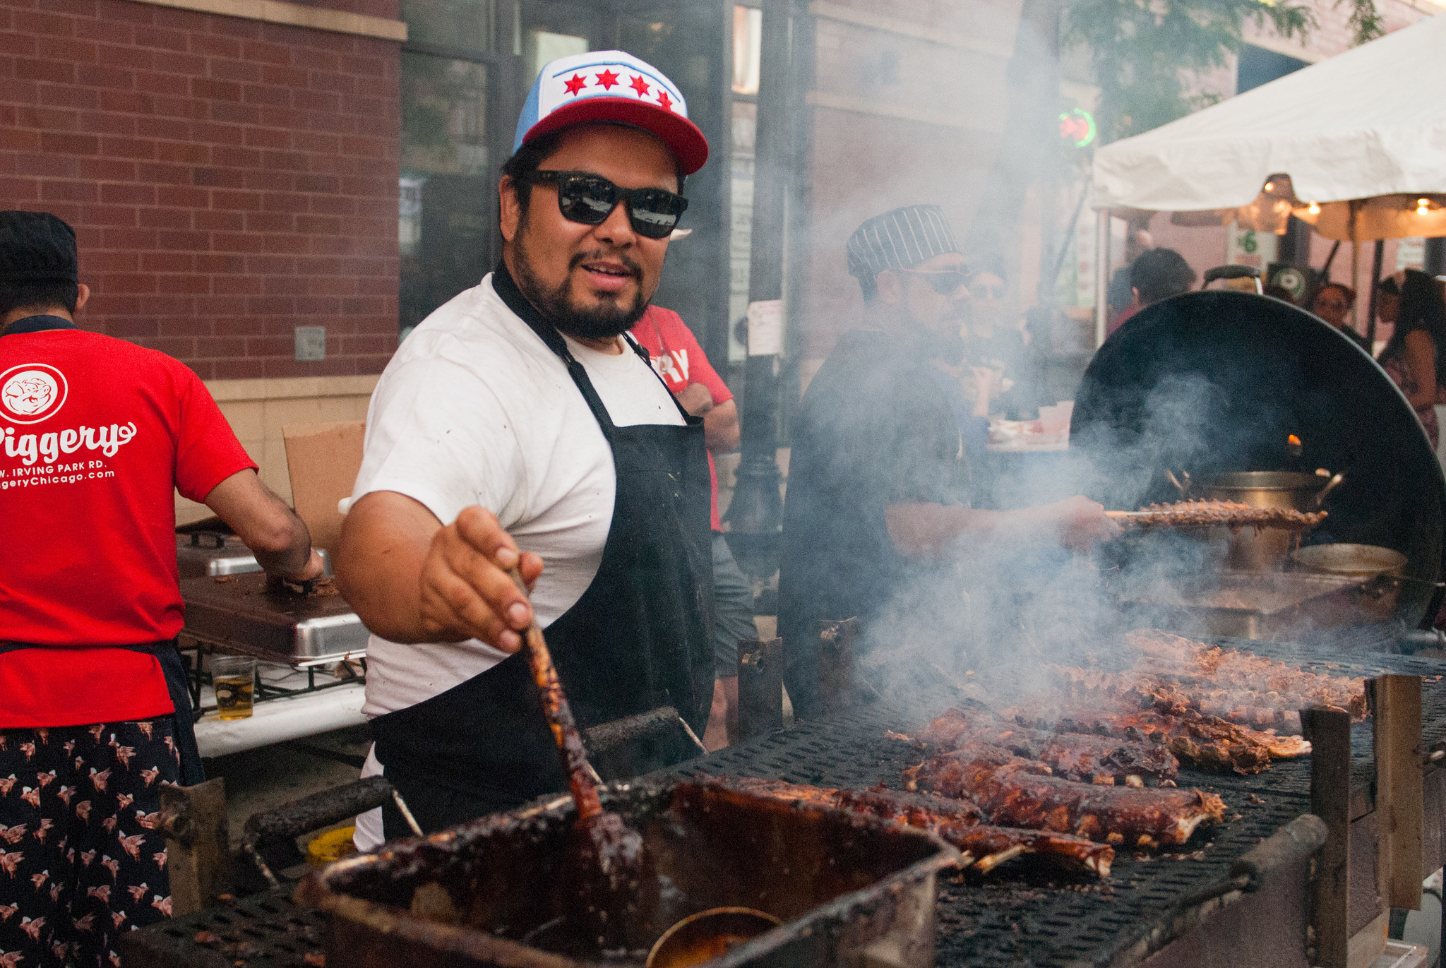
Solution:
M172 493L266 572L322 570L195 373L75 326L77 266L68 224L0 213L0 962L26 968L120 964L171 913L161 787L204 780Z

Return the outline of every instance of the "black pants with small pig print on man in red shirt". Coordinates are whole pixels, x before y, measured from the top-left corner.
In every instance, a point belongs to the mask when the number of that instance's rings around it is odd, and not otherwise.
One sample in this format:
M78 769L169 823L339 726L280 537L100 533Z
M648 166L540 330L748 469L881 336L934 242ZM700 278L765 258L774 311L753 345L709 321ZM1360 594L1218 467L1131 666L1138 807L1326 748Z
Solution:
M174 716L0 728L0 967L111 968L123 932L171 916L179 777Z

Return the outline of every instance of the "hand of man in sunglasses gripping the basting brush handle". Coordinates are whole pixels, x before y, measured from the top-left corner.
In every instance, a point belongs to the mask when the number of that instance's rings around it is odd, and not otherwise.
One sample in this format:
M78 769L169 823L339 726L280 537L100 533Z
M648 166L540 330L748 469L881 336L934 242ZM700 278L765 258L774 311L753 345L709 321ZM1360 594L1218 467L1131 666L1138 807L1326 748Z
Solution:
M437 638L480 638L505 653L522 648L518 632L532 608L508 573L519 567L528 589L542 574L542 559L522 554L497 518L466 508L432 537L422 563L419 612Z

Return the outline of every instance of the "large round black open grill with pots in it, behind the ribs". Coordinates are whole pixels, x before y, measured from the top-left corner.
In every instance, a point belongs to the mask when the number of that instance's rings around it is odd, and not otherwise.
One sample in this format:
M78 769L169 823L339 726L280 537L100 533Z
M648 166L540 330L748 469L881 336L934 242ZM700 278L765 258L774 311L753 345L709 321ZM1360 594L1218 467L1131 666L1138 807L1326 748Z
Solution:
M1327 518L1304 541L1407 559L1398 576L1287 572L1265 589L1258 574L1226 569L1220 534L1137 532L1116 543L1112 563L1121 608L1137 624L1280 640L1345 625L1381 640L1434 616L1446 573L1440 462L1375 360L1288 302L1207 291L1139 311L1090 362L1070 447L1084 493L1125 511L1178 501L1181 472L1196 498L1220 475L1339 472L1323 499ZM1131 576L1132 564L1145 574ZM1246 587L1235 593L1232 583Z

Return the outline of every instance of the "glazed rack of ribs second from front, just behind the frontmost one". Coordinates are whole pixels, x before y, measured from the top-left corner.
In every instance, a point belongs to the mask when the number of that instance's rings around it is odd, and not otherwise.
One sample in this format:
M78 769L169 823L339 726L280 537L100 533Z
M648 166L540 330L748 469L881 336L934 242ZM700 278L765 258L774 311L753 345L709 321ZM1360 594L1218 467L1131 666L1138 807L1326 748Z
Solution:
M1184 844L1225 818L1225 802L1200 790L1137 790L1074 783L1008 750L970 747L904 771L910 790L972 800L992 823L1154 846Z

